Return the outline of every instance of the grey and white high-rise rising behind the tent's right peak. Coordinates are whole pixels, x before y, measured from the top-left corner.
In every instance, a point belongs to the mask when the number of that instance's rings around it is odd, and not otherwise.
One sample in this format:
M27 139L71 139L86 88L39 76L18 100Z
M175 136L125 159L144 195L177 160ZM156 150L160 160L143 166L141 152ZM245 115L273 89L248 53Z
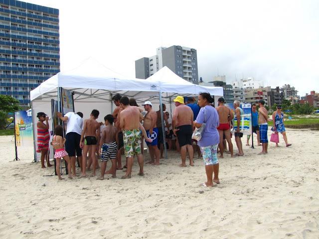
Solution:
M135 61L135 77L147 79L164 66L186 81L198 84L197 51L184 46L157 48L157 54Z

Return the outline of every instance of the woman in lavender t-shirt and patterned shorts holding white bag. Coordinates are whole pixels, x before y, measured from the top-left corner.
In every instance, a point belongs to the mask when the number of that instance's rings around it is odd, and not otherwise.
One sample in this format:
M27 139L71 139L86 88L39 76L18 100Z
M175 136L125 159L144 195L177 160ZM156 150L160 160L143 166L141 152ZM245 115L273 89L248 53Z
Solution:
M219 183L219 163L217 159L217 147L219 143L217 127L219 125L219 117L215 108L210 105L211 103L213 103L213 99L211 98L210 94L199 94L198 105L201 107L201 109L196 120L193 122L193 125L196 128L200 128L205 123L205 126L203 126L204 128L200 133L201 137L198 137L200 138L198 139L198 145L203 155L207 176L207 182L200 184L200 186L204 187L212 187L214 185L213 182L217 184Z

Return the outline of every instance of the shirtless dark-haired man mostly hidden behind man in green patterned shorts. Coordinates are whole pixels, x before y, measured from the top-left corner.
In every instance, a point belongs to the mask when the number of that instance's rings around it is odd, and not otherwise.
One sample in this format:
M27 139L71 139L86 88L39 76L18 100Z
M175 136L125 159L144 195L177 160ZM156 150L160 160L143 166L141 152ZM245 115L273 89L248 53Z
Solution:
M118 139L119 139L119 142L118 142L118 153L117 153L117 157L116 157L117 163L118 163L118 165L117 165L117 169L118 170L123 169L123 167L122 167L121 149L123 148L124 144L123 144L123 133L122 133L121 128L120 128L120 113L123 110L120 107L121 98L122 98L122 96L120 94L116 94L115 96L112 97L112 101L116 105L116 108L114 109L112 116L115 118L114 122L115 122L115 126L118 129ZM111 171L107 171L106 173L107 174L111 173Z

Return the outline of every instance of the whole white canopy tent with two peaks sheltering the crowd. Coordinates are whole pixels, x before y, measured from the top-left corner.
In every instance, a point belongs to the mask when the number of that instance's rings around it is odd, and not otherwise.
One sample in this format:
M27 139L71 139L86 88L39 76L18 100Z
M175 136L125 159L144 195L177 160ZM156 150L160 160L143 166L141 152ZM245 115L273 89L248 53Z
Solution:
M103 117L111 114L112 96L117 93L135 98L138 102L150 100L159 105L161 102L170 103L175 95L196 96L201 92L208 92L213 96L223 95L222 87L192 84L167 67L144 80L126 77L89 58L71 71L52 76L30 92L33 123L37 121L37 112L51 115L51 99L57 98L60 87L74 93L75 111L81 111L85 119L89 118L93 109L99 110Z

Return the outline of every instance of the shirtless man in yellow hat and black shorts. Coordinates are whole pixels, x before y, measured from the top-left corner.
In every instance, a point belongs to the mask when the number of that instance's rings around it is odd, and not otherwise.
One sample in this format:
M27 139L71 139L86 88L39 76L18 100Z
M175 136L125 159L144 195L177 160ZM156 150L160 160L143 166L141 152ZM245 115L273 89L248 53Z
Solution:
M194 114L190 107L184 105L184 97L177 96L173 101L176 108L173 113L172 127L180 147L181 164L179 166L186 167L186 151L188 151L189 165L194 166L194 151L191 142Z

